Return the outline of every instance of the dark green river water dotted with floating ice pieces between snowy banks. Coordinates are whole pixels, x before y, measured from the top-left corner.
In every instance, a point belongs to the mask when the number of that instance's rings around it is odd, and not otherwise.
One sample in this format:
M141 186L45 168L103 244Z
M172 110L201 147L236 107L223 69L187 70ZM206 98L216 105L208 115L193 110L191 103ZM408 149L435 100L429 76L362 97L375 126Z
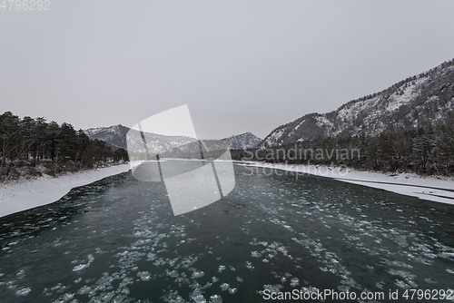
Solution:
M261 302L331 289L357 298L327 302L409 302L406 289L454 288L454 206L270 168L234 172L229 195L176 217L163 182L125 172L0 218L0 301ZM385 297L361 300L366 292Z

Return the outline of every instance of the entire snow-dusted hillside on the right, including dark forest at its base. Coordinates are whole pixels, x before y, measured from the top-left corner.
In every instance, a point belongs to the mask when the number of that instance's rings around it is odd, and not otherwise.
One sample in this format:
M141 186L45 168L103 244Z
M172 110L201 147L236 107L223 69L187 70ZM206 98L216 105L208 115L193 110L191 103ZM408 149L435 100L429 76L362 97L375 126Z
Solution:
M454 59L388 89L281 125L234 159L454 175Z

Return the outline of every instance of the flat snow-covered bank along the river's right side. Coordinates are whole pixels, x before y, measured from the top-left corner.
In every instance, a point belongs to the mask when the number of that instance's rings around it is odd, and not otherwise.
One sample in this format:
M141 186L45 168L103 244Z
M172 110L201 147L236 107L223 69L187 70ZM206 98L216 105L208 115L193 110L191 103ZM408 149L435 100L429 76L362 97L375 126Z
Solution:
M285 165L262 162L237 163L238 165L267 167L281 171L298 171L339 181L369 186L385 191L454 205L454 179L421 177L413 173L390 175L380 172L355 171L339 167L315 165ZM280 174L285 174L281 172Z

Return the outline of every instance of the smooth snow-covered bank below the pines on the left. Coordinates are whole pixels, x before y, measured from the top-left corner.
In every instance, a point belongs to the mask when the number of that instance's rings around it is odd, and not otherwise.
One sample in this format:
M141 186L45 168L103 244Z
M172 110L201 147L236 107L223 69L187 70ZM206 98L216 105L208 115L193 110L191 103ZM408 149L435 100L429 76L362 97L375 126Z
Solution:
M130 169L129 164L122 164L96 171L65 174L57 178L44 176L0 184L0 217L52 203L74 187L90 184Z

